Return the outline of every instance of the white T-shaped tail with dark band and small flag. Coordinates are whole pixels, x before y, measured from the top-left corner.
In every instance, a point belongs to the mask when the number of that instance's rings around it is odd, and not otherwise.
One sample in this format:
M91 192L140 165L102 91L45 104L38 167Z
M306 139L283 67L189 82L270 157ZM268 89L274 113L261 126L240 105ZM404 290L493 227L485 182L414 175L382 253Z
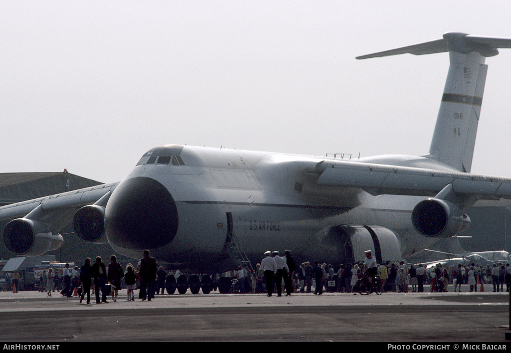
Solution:
M368 59L398 54L424 55L449 52L450 66L427 157L461 172L470 172L481 111L486 57L511 48L511 39L449 32L443 39L359 56Z

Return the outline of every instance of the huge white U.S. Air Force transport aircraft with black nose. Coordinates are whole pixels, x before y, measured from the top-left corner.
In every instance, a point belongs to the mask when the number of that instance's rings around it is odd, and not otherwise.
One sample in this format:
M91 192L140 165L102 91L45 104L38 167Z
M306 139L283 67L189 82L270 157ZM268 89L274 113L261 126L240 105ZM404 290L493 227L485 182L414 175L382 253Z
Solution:
M470 174L486 57L511 39L442 39L358 57L449 52L429 153L357 161L167 145L145 153L121 182L0 207L7 248L35 256L61 246L73 222L86 242L110 243L168 268L218 273L267 250L338 265L401 260L469 227L464 212L511 199L511 179ZM508 203L506 203L508 204ZM238 250L232 250L232 249Z

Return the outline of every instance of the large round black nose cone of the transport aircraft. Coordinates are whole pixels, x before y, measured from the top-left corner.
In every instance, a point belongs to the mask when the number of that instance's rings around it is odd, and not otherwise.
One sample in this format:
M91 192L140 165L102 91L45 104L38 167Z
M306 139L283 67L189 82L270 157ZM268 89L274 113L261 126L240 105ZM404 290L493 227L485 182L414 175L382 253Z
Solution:
M125 249L154 249L176 236L177 207L167 188L147 177L122 181L105 208L108 241Z

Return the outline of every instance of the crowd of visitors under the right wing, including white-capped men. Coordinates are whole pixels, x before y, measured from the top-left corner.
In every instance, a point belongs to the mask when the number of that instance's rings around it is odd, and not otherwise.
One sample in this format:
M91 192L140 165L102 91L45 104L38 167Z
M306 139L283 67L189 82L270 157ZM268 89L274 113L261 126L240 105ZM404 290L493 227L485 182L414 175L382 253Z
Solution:
M246 293L267 292L271 296L277 292L281 295L282 288L286 288L286 279L283 275L277 274L276 266L270 263L268 259L275 259L275 256L291 258L286 250L288 257L278 256L278 252L266 252L266 257L261 264L257 264L254 273L247 269L244 271L245 280L244 290ZM369 253L370 255L370 253ZM374 256L372 256L374 258ZM368 256L368 258L370 258ZM294 260L292 260L294 266ZM290 290L286 288L286 295L292 292L313 293L321 295L324 291L352 293L359 276L367 269L367 262L362 261L356 264L341 264L338 268L326 263L321 264L318 261L304 262L299 266L294 266L295 270L290 271L282 266L280 273L284 273L289 278ZM270 273L265 275L269 270ZM371 271L369 271L371 272ZM509 291L511 288L511 266L509 264L493 264L481 266L479 264L459 264L458 266L443 267L442 264L436 264L426 267L422 264L410 265L405 262L383 262L377 264L374 275L381 279L383 290L386 292L424 292L424 286L428 285L429 290L433 292L454 292L467 291L477 292L481 290L480 286L489 285L490 290L493 286L494 292ZM371 273L369 273L370 275ZM276 283L282 285L277 286ZM450 287L453 286L453 287ZM479 287L478 287L479 286ZM484 289L483 289L484 290ZM486 289L489 291L489 289Z

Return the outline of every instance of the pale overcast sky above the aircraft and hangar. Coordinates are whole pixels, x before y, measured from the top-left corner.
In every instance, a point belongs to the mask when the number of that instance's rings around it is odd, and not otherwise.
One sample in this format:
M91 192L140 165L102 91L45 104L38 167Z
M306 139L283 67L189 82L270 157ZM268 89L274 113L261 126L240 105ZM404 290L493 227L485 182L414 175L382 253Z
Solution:
M428 153L442 38L511 38L502 1L0 0L0 172L121 180L166 144ZM511 49L487 58L472 172L511 177Z

